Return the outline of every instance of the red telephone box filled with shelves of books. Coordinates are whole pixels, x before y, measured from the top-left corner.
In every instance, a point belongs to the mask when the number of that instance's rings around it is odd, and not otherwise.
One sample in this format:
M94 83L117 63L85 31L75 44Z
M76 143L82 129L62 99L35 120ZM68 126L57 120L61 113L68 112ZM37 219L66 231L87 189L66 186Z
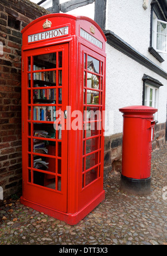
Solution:
M105 42L90 18L23 30L21 202L75 225L105 198Z

